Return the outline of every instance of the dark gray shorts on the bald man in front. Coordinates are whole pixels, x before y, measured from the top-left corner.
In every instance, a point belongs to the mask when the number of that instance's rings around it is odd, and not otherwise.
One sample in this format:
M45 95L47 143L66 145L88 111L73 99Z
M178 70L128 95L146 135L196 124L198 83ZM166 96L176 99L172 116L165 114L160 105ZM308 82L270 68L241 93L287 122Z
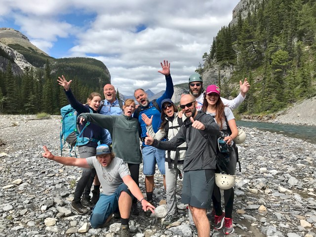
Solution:
M181 202L197 208L210 208L215 169L185 171Z

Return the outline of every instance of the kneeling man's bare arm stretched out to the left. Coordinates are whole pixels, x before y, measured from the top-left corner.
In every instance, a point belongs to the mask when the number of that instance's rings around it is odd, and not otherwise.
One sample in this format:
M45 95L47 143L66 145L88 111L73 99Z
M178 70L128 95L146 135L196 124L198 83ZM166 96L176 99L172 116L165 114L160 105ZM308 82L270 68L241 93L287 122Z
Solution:
M78 166L82 168L91 168L88 164L86 158L75 158L75 157L57 157L51 154L50 151L48 151L46 146L43 146L44 152L42 153L42 156L44 158L54 160L57 163L63 164L63 165L71 165L71 166Z

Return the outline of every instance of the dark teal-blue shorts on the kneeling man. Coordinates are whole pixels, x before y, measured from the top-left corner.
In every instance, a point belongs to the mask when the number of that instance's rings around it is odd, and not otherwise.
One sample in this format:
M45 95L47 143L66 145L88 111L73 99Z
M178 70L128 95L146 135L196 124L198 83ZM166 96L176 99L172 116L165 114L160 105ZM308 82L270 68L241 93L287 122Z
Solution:
M124 183L119 185L116 192L112 195L100 194L100 198L93 207L90 217L92 228L97 229L102 226L113 212L118 211L118 197L122 191L133 197Z

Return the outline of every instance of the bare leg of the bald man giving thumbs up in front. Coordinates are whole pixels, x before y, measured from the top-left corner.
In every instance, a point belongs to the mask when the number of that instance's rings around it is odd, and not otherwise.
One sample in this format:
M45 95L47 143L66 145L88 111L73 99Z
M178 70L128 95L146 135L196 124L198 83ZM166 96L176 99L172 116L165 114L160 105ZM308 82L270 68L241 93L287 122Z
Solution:
M210 225L209 225L208 218L206 216L206 209L197 208L190 205L189 205L189 208L192 213L194 224L197 227L198 237L209 237Z

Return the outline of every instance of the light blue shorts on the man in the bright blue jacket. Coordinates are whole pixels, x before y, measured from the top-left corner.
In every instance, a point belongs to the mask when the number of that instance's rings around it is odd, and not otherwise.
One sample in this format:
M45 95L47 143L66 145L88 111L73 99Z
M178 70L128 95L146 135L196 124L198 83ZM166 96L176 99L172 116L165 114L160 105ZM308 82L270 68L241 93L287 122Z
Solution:
M142 148L143 154L143 173L151 176L155 174L156 163L162 175L165 175L164 161L165 151L156 147L148 146Z

